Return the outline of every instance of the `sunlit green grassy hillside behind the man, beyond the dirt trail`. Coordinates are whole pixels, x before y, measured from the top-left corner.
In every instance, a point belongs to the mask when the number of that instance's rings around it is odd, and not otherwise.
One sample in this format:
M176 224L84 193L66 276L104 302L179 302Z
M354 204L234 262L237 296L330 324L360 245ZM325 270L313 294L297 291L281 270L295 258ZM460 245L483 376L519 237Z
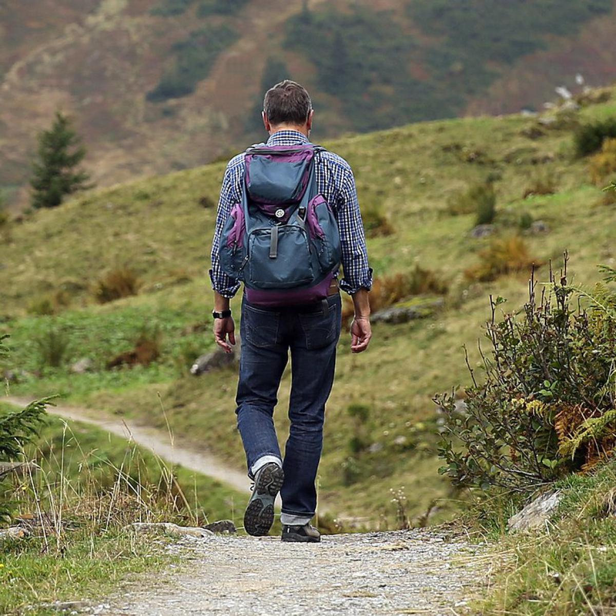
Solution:
M366 354L352 356L342 336L320 468L329 513L391 527L423 514L435 498L444 500L433 519L456 508L458 496L436 474L439 416L431 397L468 381L461 347L476 362L488 295L508 298L508 309L516 310L531 261L546 280L548 262L557 269L568 249L574 282L591 285L596 265L615 258L614 205L591 184L588 158L573 151L575 126L616 116L611 94L587 97L603 102L579 112L550 112L553 121L543 123L524 116L435 121L325 144L354 168L379 284L419 265L419 277L448 287L444 308L430 317L376 325ZM164 428L160 392L176 442L206 445L242 468L234 373L187 374L192 360L213 347L206 272L223 170L217 163L84 193L10 227L2 245L0 331L12 335L11 368L25 371L10 385L13 393L59 392ZM469 235L475 201L469 208L461 198L477 184L496 195L495 232L482 239ZM537 221L543 224L532 227ZM491 277L477 274L490 246L492 256L505 253L505 269L519 274L478 282ZM94 286L122 266L139 278L139 293L97 304ZM139 338L155 342L155 362L106 368ZM70 373L83 357L93 371ZM282 429L289 385L287 372L277 413Z

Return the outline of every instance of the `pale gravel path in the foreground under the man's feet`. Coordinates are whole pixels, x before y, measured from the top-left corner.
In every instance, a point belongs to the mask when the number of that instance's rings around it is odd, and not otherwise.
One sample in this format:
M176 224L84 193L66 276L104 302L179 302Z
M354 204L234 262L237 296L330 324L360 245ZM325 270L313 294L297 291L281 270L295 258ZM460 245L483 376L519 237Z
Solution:
M480 591L489 562L479 546L424 530L330 535L312 545L216 535L170 549L189 562L94 613L452 616Z

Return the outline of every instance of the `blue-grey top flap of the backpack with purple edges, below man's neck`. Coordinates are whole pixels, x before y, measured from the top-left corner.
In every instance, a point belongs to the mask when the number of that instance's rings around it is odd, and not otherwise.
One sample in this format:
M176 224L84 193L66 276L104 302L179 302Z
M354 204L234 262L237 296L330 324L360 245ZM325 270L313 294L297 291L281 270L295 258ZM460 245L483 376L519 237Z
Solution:
M312 144L249 148L245 168L250 200L264 206L299 203L308 186L314 153Z

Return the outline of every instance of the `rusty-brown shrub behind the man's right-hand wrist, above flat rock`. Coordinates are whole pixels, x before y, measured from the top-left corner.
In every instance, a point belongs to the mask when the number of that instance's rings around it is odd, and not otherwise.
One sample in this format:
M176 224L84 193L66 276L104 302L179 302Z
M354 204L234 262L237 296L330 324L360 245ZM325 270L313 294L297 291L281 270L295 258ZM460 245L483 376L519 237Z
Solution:
M416 265L406 274L375 278L370 291L370 309L376 312L416 295L445 295L448 291L447 282L436 272ZM347 300L342 307L342 323L349 323L352 317L353 304Z

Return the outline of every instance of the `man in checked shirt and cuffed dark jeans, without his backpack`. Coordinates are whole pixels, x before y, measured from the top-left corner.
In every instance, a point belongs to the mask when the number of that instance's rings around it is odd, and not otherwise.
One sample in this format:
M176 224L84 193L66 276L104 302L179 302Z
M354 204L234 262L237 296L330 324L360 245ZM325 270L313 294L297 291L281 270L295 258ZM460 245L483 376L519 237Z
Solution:
M304 87L282 81L265 94L262 113L270 137L266 147L309 144L314 111ZM351 294L355 317L351 351L368 348L371 338L368 258L355 180L340 156L320 151L314 158L317 190L338 223L344 278L339 288ZM226 352L235 344L229 300L240 283L221 269L219 246L232 206L240 203L245 182L245 154L232 158L222 180L212 245L210 277L214 288L214 338ZM325 302L325 305L323 305ZM315 478L323 442L325 403L334 379L336 345L341 330L341 298L334 278L327 298L310 304L259 306L243 298L237 422L246 451L248 476L254 480L244 525L251 535L267 535L274 522L274 500L282 496L283 541L320 541L310 525L317 505ZM274 429L280 379L291 351L291 427L284 460Z

